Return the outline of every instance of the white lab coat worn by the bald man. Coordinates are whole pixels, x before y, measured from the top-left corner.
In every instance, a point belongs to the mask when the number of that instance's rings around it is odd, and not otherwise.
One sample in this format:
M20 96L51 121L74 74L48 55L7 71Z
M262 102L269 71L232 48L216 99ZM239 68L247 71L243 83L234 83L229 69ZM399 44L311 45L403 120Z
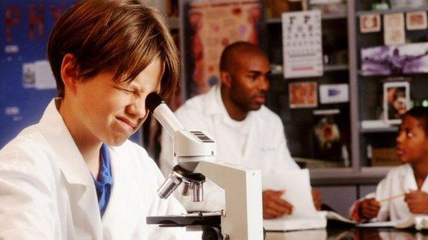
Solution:
M217 85L206 94L189 99L175 114L187 130L205 131L215 140L217 161L261 170L264 176L298 169L289 154L281 119L265 106L250 111L243 122L236 122L228 116ZM177 164L172 139L165 131L159 162L165 176ZM187 211L224 209L224 190L211 181L204 183L204 202L190 202L180 191L176 191L176 197Z

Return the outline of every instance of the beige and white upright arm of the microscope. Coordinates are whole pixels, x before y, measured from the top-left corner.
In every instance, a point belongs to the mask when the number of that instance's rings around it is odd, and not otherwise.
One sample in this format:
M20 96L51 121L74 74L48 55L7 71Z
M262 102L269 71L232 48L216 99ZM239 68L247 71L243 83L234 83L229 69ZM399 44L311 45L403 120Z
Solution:
M228 233L230 239L263 239L259 170L200 161L195 172L200 172L224 189L226 216L222 217L222 232Z

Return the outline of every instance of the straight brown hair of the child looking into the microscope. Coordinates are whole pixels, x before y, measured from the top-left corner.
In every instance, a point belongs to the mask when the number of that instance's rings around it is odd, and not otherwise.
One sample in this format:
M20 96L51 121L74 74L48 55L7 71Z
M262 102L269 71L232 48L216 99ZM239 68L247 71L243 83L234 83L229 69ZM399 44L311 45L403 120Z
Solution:
M47 50L60 97L60 69L67 53L76 57L78 77L117 67L115 79L126 83L159 57L165 64L160 95L166 100L180 79L180 58L163 15L138 0L82 0L61 16Z

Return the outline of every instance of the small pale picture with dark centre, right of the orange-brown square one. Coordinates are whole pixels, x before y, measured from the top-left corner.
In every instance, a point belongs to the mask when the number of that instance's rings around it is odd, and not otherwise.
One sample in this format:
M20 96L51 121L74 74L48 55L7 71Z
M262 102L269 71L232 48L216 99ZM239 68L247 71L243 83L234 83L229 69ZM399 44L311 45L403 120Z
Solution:
M320 103L346 103L348 101L348 84L320 85Z

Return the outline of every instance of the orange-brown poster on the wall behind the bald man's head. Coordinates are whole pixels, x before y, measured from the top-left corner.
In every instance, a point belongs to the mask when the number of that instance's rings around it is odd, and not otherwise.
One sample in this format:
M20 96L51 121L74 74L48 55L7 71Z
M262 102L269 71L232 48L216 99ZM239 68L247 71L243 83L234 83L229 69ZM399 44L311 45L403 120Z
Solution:
M223 49L233 42L259 43L261 3L258 0L204 1L187 6L187 96L219 82Z

